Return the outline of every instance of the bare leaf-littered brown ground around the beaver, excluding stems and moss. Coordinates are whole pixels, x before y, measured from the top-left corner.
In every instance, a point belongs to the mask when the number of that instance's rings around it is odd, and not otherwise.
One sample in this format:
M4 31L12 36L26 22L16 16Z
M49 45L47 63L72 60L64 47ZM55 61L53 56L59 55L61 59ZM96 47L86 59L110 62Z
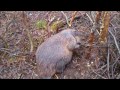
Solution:
M71 17L73 12L74 11L64 11L67 17ZM116 12L113 12L111 17L116 15L115 13ZM15 20L13 20L14 15L16 15ZM0 48L5 46L6 42L8 45L6 50L0 49L1 79L38 79L35 58L34 56L31 57L31 55L26 54L29 52L30 44L27 34L25 33L25 26L21 23L20 15L20 11L0 13L0 42L2 42ZM35 26L36 21L48 21L52 17L65 21L65 17L60 11L26 11L26 15L29 17L28 23L30 25L29 30L34 44L34 53L38 45L48 38L46 36L47 31L38 29ZM84 41L86 42L92 28L92 23L86 16L85 11L79 11L77 16L79 16L79 18L73 21L71 28L83 32ZM117 19L119 16L120 14L116 15L111 22L114 23L114 26L118 29L115 31L115 34L117 33L119 35L117 41L120 45L120 23L116 23L116 20L118 20L118 22L120 21ZM67 24L59 28L58 32L66 28L68 28ZM6 32L5 30L8 31ZM112 39L111 43L113 42L114 40ZM102 55L100 58L98 57L100 55L99 50L100 48L94 47L91 52L91 57L87 58L86 53L89 51L89 48L84 45L81 46L80 49L76 50L71 63L67 65L64 72L62 74L56 74L53 79L108 79L106 58L103 59ZM119 54L116 53L116 49L111 50L114 50L111 54L115 54L113 57L111 56L111 58L113 58L111 64L113 65L116 60L119 62ZM115 70L118 70L118 66L119 63ZM117 72L114 71L114 75L111 74L110 76L111 78L116 78L118 75L119 70Z

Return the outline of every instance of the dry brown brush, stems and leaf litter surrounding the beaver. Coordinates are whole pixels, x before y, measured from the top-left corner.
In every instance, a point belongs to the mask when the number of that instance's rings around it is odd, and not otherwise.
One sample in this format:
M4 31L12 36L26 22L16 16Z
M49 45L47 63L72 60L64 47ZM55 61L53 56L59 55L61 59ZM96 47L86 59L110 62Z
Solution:
M0 11L0 78L36 79L35 51L66 28L83 33L82 46L64 79L120 78L120 13L117 11Z

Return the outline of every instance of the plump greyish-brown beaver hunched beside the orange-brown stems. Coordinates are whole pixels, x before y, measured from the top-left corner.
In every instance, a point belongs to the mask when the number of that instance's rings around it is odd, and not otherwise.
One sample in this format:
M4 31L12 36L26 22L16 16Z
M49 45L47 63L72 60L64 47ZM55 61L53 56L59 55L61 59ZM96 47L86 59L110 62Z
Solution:
M51 79L55 73L63 72L73 51L80 47L80 34L75 29L65 29L38 47L35 55L40 79Z

